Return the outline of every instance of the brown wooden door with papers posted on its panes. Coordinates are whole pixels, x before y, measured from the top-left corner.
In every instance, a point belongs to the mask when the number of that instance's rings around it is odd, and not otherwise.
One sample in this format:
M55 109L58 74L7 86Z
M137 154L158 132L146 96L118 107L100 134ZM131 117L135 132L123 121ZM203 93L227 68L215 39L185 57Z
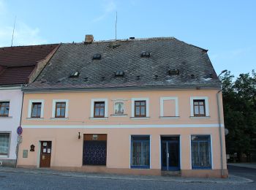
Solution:
M41 142L40 167L50 167L51 141Z

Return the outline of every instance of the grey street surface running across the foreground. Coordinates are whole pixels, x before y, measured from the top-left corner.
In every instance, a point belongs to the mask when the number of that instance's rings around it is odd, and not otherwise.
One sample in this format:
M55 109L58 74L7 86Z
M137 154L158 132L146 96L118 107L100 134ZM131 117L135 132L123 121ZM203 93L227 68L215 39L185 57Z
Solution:
M229 167L231 175L256 180L256 169L245 167ZM82 176L82 175L81 175ZM214 183L201 181L161 181L146 180L146 178L105 178L108 175L94 175L91 177L61 176L58 174L40 172L11 172L0 170L0 189L256 189L253 183ZM103 177L102 177L103 176ZM151 179L154 179L154 177ZM183 178L182 178L183 179Z

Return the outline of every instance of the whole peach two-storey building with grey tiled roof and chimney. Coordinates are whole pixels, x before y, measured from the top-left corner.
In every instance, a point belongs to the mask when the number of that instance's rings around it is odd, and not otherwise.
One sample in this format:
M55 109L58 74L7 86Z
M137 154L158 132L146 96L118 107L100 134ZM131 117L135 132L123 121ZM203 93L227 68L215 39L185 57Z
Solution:
M227 176L207 50L175 38L86 37L61 44L23 88L18 167Z

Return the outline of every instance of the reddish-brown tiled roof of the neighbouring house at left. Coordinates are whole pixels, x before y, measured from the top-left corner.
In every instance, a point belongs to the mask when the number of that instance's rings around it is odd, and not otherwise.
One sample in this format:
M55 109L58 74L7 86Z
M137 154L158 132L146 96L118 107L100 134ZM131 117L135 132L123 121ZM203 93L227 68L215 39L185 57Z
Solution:
M27 83L37 62L48 56L57 46L58 44L1 47L0 85Z

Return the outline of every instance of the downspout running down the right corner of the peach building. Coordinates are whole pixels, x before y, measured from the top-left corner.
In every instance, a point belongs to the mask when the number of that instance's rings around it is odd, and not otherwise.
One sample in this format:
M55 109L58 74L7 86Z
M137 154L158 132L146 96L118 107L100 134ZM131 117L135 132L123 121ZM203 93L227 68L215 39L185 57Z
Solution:
M219 93L221 91L222 91L222 89L219 90L216 95L217 95L218 120L219 120L220 170L221 170L221 177L225 178L224 169L223 169L222 123L221 123L221 118L220 118L220 107L219 107Z

